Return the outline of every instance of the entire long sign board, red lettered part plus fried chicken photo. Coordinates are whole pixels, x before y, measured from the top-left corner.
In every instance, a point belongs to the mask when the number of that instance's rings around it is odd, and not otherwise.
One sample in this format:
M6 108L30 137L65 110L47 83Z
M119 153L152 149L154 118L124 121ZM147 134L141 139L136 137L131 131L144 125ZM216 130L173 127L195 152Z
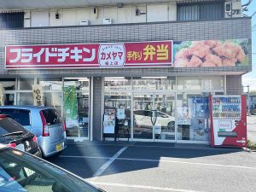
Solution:
M241 67L249 64L247 38L5 47L6 69Z

